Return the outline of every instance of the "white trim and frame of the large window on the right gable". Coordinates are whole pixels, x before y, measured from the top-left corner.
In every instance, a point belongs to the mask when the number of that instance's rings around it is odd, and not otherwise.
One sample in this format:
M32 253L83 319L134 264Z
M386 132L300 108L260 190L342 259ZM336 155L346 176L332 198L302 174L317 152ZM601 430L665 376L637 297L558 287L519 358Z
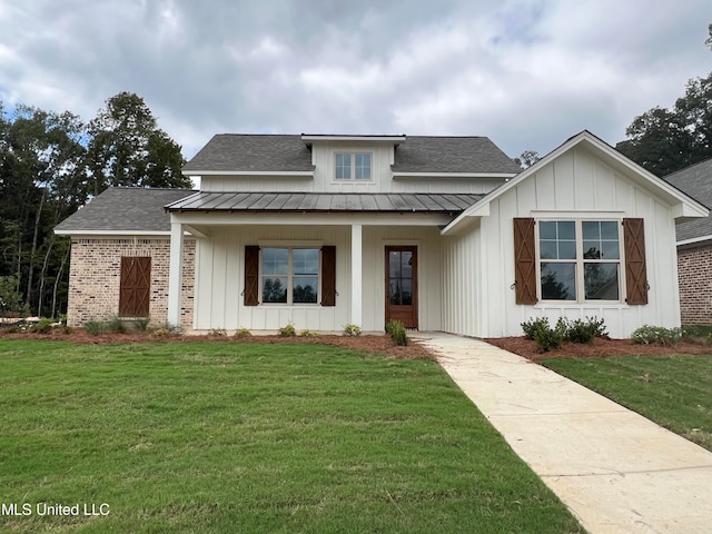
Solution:
M540 217L535 219L534 225L534 241L535 241L535 254L536 254L536 298L538 300L538 305L541 307L568 307L576 306L580 307L582 305L586 306L601 306L601 307L621 307L627 306L625 303L625 246L623 243L623 218L616 216L611 216L612 214L594 214L592 216L582 217L581 214L576 214L573 216L571 212L561 212L555 215ZM551 222L551 221L573 221L575 225L575 235L576 235L576 258L572 260L554 260L552 263L563 263L563 264L576 264L576 299L575 300L552 300L542 298L542 263L547 263L546 259L542 259L541 250L540 250L540 228L541 222ZM610 221L615 222L619 231L619 259L613 261L602 261L602 263L617 263L619 264L619 299L617 300L601 300L601 299L586 299L586 289L584 283L584 264L586 260L583 257L583 226L584 221L594 221L594 222L603 222Z

